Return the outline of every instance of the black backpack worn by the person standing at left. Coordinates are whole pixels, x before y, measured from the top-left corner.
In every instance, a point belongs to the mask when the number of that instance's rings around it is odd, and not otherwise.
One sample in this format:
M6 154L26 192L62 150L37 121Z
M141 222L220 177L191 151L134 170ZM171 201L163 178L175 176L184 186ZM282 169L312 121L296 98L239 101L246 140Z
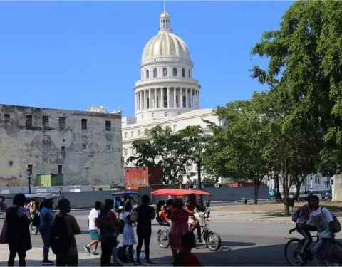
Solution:
M55 223L51 227L50 246L51 250L56 255L66 254L71 248L73 236L69 235L68 226L64 218L66 215L55 216Z

